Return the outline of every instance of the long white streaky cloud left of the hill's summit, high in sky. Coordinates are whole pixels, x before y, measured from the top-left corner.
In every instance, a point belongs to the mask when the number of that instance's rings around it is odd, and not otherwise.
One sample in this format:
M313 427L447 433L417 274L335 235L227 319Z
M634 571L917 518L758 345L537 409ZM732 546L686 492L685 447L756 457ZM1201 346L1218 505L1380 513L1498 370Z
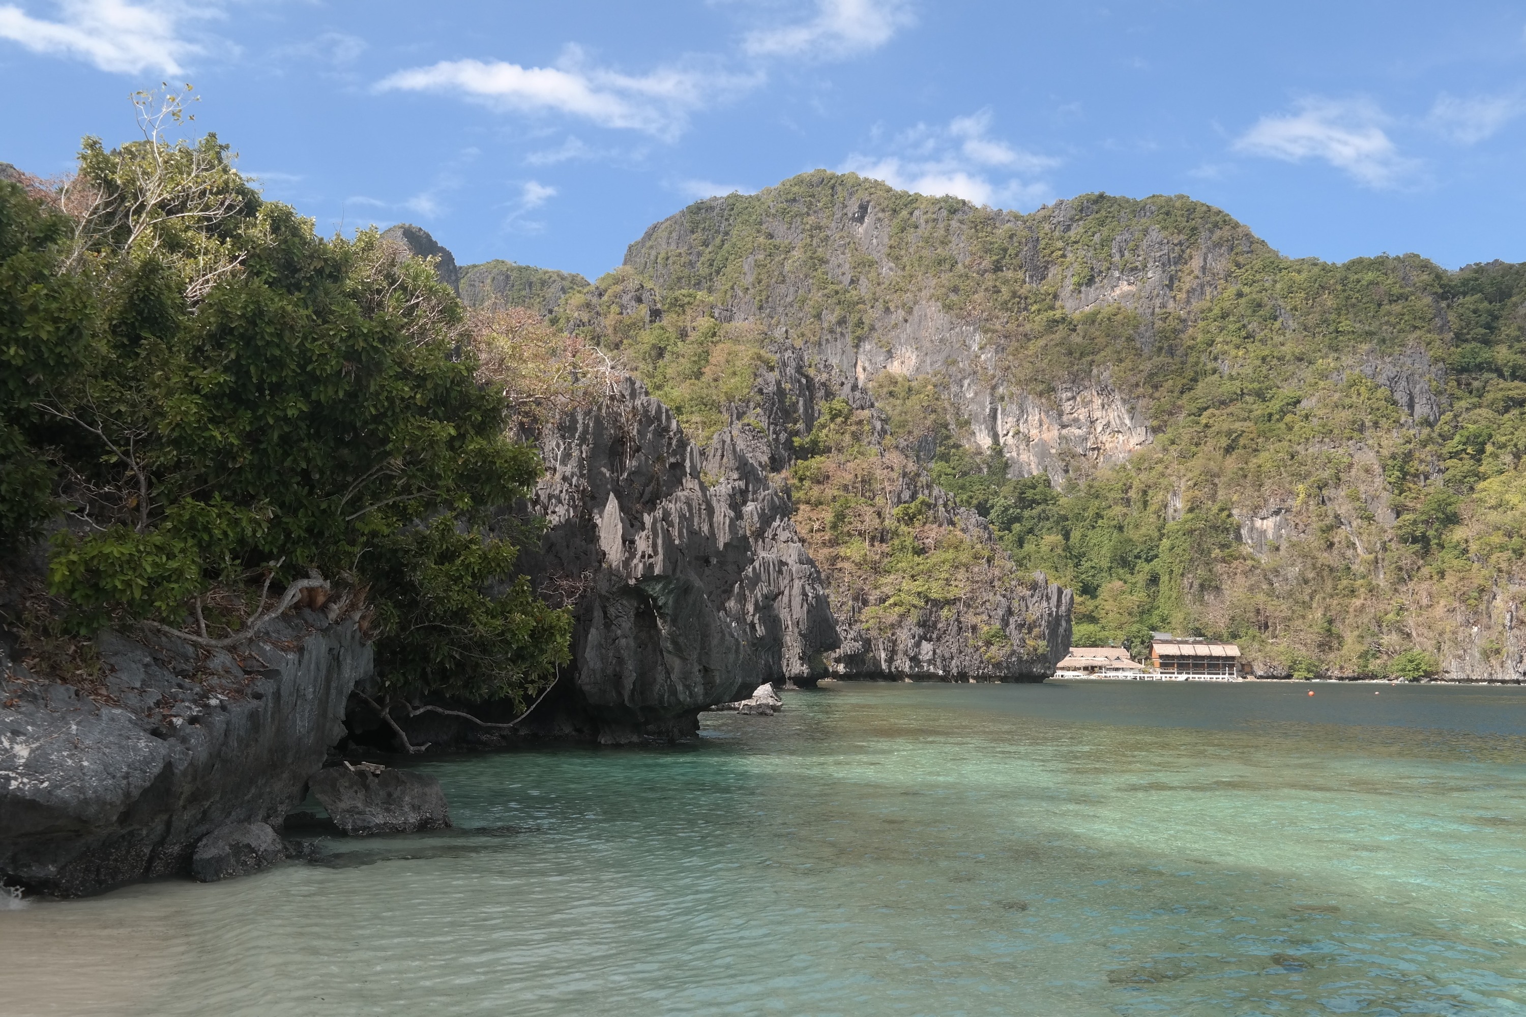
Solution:
M659 67L649 75L624 75L588 66L583 50L569 46L557 67L520 67L504 61L441 61L400 70L383 79L382 91L435 91L522 113L563 113L600 127L629 128L674 137L688 114L760 82L703 67Z

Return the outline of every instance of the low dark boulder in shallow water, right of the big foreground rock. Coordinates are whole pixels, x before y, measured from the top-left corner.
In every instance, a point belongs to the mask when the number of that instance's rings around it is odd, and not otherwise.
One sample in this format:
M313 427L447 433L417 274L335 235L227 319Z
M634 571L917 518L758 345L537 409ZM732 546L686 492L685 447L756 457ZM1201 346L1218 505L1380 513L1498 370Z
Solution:
M450 810L439 781L389 767L328 767L308 787L330 819L351 837L444 829Z

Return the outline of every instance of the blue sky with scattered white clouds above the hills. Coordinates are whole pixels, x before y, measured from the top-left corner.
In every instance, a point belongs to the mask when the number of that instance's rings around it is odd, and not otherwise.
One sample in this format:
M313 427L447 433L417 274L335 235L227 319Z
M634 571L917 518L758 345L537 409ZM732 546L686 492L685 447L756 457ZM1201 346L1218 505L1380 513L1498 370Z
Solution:
M595 276L688 201L813 168L1032 210L1189 194L1289 256L1526 261L1526 5L0 0L0 160L194 82L324 232Z

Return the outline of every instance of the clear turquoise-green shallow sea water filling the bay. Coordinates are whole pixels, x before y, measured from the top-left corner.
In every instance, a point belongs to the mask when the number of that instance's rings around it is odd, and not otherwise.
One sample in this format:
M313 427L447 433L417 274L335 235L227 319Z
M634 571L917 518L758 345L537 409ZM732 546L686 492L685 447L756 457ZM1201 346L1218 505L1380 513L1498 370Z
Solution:
M0 910L0 1012L1526 1012L1526 689L844 685L703 735Z

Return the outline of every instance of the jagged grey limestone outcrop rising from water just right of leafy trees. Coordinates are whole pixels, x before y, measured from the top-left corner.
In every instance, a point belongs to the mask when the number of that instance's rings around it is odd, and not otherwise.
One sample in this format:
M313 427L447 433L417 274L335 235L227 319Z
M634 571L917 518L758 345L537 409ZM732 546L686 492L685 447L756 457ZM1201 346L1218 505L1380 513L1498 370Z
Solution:
M540 453L546 476L526 509L546 529L520 566L572 607L572 665L511 735L424 714L400 721L412 743L687 738L739 689L824 674L836 625L761 441L728 428L702 453L627 378L546 428ZM511 714L449 706L493 723ZM353 726L374 724L356 711Z

